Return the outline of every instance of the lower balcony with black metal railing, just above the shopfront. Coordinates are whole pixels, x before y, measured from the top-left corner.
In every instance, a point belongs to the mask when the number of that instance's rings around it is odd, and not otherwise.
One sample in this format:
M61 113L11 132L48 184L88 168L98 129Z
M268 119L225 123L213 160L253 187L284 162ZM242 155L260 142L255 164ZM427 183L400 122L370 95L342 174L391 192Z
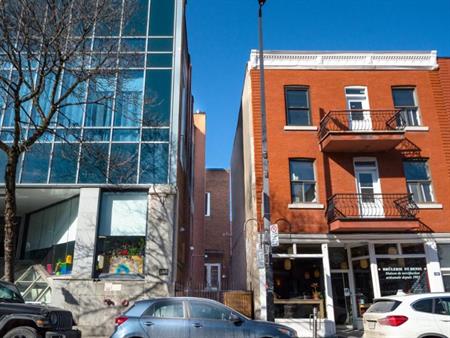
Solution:
M418 211L410 194L335 194L326 213L332 231L397 231L417 227Z

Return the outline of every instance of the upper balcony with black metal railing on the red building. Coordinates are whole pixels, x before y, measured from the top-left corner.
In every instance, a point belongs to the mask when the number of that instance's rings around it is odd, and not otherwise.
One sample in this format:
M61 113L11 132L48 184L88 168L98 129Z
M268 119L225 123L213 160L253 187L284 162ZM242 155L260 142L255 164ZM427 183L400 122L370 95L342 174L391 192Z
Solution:
M404 139L401 110L339 110L320 121L319 142L327 152L371 152L394 148Z

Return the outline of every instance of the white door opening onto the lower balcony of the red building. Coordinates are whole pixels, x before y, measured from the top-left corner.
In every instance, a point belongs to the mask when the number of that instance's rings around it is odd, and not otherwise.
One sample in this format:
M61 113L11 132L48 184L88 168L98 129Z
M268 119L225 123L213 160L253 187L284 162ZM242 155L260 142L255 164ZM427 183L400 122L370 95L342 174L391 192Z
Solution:
M355 161L360 217L383 217L383 197L376 161Z

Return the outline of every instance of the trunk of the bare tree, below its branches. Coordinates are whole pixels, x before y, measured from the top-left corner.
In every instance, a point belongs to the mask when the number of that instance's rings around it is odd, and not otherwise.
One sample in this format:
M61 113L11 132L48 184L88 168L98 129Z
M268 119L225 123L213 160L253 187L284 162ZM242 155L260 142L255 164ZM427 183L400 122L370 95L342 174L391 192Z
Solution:
M19 155L14 149L8 153L5 171L5 279L14 282L14 238L16 218L16 168Z

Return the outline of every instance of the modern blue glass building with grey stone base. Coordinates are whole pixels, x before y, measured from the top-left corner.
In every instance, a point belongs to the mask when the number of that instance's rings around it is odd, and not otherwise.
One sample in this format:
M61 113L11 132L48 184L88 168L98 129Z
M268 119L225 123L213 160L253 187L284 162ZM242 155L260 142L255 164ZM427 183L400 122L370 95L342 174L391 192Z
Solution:
M30 300L73 307L88 335L98 333L99 317L122 311L119 304L171 293L183 273L178 229L189 225L185 0L133 0L137 8L125 20L129 2L118 0L120 24L97 25L87 44L89 62L107 48L120 71L80 86L73 96L86 104L65 107L53 122L56 135L22 156L17 173L18 268L38 264L19 286ZM15 76L14 69L4 71ZM63 85L71 81L63 75ZM100 97L106 99L93 103ZM1 140L12 141L13 123L6 109ZM39 284L36 269L51 287L29 288ZM106 306L107 315L105 299L117 304Z

